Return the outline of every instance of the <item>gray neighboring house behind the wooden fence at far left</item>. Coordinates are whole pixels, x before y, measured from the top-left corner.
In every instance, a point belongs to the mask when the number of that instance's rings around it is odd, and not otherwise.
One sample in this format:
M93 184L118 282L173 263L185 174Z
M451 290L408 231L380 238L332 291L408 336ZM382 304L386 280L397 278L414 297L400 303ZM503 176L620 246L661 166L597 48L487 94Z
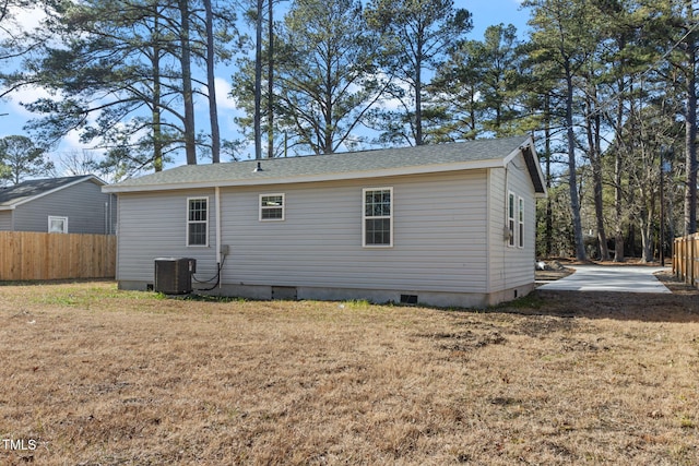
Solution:
M116 199L93 175L0 188L0 230L112 235Z

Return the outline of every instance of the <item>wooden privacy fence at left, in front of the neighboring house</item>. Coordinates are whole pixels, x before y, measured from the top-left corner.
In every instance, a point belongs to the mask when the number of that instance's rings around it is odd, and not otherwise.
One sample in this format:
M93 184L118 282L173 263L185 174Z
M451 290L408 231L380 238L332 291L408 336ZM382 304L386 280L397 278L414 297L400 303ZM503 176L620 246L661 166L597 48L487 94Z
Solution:
M117 237L0 231L0 280L114 278Z

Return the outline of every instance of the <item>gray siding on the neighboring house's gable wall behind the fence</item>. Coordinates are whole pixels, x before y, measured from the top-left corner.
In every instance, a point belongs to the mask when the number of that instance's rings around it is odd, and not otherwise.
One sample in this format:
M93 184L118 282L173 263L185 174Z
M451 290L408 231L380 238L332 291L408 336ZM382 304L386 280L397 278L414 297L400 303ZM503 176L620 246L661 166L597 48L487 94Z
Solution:
M98 184L85 181L17 205L14 230L48 231L48 217L57 216L68 217L70 234L112 234L108 222L115 215L114 198L103 194Z

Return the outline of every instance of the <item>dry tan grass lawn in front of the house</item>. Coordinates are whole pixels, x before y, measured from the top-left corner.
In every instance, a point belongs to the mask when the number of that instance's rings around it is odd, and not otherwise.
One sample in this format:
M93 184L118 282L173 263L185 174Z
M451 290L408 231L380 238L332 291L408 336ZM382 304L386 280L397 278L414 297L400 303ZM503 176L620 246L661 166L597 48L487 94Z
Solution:
M485 311L0 286L0 463L696 465L699 297Z

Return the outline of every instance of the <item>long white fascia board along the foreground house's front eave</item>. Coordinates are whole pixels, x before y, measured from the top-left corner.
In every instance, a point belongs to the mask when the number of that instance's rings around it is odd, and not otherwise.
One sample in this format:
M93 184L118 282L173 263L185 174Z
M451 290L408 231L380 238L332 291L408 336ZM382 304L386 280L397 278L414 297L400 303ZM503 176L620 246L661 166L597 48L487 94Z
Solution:
M337 174L321 174L321 175L303 175L297 177L281 177L281 178L248 178L242 180L212 180L212 181L197 181L197 182L177 182L177 183L162 183L162 184L143 184L143 186L126 186L120 187L118 184L104 186L102 192L104 193L120 193L120 192L144 192L144 191L173 191L182 189L209 189L209 188L233 188L233 187L250 187L250 186L269 186L269 184L292 184L292 183L309 183L309 182L323 182L323 181L342 181L342 180L358 180L358 179L374 179L386 177L400 177L406 175L423 175L423 174L438 174L447 171L461 171L461 170L476 170L485 168L502 167L502 158L490 158L485 160L472 160L461 162L455 164L440 164L440 165L418 165L410 167L389 168L382 170L371 171L347 171Z

